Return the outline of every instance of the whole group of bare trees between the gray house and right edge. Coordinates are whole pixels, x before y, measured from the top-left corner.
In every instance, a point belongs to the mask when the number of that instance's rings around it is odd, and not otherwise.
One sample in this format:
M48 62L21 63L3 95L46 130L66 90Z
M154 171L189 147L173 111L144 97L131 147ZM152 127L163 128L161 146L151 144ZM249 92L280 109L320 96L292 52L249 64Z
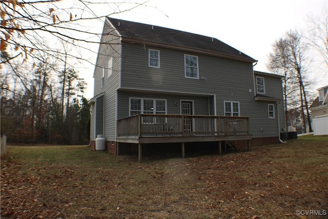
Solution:
M309 73L322 69L326 78L328 69L328 12L309 18L309 30L305 33L289 31L278 39L270 53L268 69L283 75L283 98L286 125L295 127L298 133L312 132L311 103L317 93L311 92L314 81ZM326 81L327 82L327 81Z

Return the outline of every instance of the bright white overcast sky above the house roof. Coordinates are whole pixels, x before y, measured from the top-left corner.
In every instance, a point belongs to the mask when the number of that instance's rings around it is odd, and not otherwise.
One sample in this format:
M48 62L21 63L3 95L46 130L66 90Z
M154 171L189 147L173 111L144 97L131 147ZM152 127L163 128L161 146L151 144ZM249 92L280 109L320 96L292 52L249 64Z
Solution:
M308 29L306 18L322 14L328 0L150 0L147 5L153 7L139 7L112 17L217 38L258 60L254 70L268 72L268 55L275 41L289 30ZM314 90L328 85L324 73L315 74L319 78ZM88 82L87 98L93 96L92 75L93 69L81 75Z

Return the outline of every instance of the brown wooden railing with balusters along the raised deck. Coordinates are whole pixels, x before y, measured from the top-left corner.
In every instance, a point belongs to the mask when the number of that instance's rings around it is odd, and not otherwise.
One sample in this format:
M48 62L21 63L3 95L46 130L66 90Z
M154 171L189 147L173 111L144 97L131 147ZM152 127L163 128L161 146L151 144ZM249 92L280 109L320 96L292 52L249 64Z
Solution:
M242 134L250 134L249 117L138 114L117 120L119 137Z

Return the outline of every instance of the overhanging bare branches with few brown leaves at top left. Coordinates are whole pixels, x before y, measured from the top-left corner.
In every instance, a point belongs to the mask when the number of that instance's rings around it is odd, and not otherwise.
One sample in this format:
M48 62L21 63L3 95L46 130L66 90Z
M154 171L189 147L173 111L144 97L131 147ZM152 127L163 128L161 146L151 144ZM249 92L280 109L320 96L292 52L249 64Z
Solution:
M1 63L18 57L23 62L27 62L29 57L33 57L34 62L39 62L39 56L34 55L36 50L50 57L64 58L65 52L57 49L58 39L75 47L68 56L88 61L79 52L97 52L89 47L89 44L99 44L101 36L101 30L95 29L94 23L104 22L106 16L130 11L146 3L147 1L107 3L105 0L3 0L0 3L0 49L2 53L9 55L4 56Z

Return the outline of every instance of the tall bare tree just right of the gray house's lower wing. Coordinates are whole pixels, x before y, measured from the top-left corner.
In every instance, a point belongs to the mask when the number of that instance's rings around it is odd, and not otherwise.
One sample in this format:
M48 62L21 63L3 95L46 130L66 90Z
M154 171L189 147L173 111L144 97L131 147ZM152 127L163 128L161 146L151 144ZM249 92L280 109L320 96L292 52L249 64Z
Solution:
M273 48L274 52L270 54L268 68L275 73L284 75L283 89L286 118L289 120L288 108L295 108L295 106L291 106L292 99L298 96L304 131L306 132L306 123L309 130L312 131L307 96L311 83L306 80L307 67L310 64L310 59L306 56L308 45L302 42L302 36L297 31L290 31L286 33L284 38L279 39Z

